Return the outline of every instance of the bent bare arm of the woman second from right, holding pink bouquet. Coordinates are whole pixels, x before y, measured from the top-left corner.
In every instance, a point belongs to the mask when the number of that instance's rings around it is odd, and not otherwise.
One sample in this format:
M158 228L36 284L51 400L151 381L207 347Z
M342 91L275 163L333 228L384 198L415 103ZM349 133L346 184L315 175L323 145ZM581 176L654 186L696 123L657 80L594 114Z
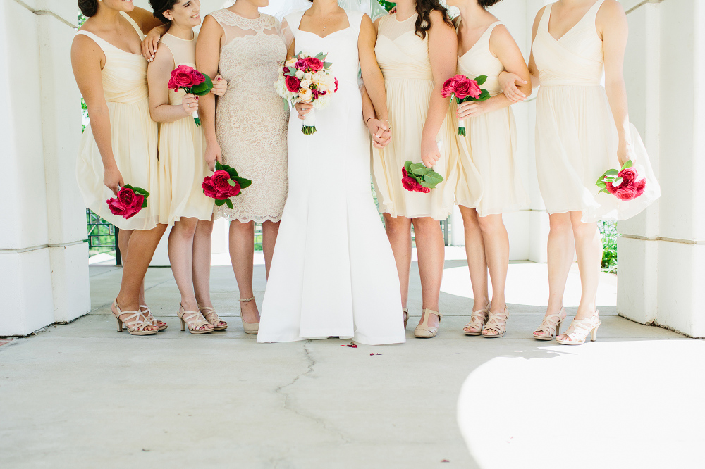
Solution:
M501 61L505 70L520 77L519 91L522 96L531 94L531 83L529 78L529 69L522 56L522 51L514 41L512 35L504 25L498 25L492 31L489 37L489 49L499 61ZM486 101L468 101L458 106L458 118L466 119L490 113L501 108L506 108L514 104L505 94L497 94Z

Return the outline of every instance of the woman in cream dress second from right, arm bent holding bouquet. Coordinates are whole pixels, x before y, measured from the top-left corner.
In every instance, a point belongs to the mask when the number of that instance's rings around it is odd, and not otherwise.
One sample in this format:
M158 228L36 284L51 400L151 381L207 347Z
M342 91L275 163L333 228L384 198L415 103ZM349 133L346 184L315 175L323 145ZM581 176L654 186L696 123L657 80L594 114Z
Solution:
M509 266L509 237L502 214L527 206L514 156L517 132L512 101L502 94L498 75L510 70L529 80L529 70L512 35L485 8L499 0L450 0L458 7L458 73L474 78L487 75L482 85L491 98L462 103L454 125L465 120L467 135L458 136L460 149L455 201L465 226L465 252L472 283L473 311L465 335L502 337L509 315L504 287ZM522 84L531 93L531 85ZM455 107L455 106L453 106ZM492 301L487 271L492 281ZM489 315L489 317L488 317ZM486 323L486 324L485 324Z

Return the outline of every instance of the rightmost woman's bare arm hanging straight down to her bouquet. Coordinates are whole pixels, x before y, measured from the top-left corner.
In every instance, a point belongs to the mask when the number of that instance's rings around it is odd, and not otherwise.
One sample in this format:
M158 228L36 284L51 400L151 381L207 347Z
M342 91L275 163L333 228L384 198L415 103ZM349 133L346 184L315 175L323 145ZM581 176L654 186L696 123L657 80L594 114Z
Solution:
M596 25L602 35L605 54L605 91L619 135L617 157L620 164L624 164L630 159L629 108L623 75L629 35L627 15L618 1L606 0L597 12Z

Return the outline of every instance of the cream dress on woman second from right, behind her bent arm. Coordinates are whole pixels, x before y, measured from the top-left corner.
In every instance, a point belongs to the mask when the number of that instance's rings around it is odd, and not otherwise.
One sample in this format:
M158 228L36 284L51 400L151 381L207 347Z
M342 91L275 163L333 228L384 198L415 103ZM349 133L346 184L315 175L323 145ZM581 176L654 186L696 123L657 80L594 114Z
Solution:
M492 55L489 40L501 21L492 23L465 54L458 57L458 73L470 78L487 75L482 88L491 96L501 94L499 74L502 62ZM460 23L458 23L460 25ZM458 108L453 100L453 124ZM455 202L474 208L484 217L520 210L529 205L522 180L515 167L517 129L511 106L465 119L467 135L458 135L458 185Z

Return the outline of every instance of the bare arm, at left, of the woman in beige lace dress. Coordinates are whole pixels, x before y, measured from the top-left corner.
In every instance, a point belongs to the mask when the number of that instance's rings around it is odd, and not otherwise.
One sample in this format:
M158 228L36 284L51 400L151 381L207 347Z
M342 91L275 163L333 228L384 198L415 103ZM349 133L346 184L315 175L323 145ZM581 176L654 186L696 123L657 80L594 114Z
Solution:
M223 27L211 15L207 15L196 41L196 68L212 79L218 74ZM216 139L216 97L209 93L200 101L201 125L206 137L206 163L211 170L215 162L223 162L221 148Z

